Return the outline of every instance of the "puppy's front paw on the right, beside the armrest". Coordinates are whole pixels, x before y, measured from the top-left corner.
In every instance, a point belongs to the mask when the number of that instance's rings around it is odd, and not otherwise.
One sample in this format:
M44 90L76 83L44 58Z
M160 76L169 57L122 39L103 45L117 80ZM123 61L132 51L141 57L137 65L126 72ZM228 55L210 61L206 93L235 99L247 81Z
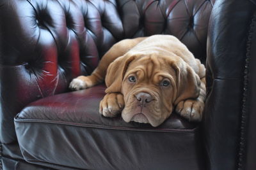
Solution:
M180 101L176 106L176 112L191 122L200 122L202 120L203 110L204 102L196 99Z

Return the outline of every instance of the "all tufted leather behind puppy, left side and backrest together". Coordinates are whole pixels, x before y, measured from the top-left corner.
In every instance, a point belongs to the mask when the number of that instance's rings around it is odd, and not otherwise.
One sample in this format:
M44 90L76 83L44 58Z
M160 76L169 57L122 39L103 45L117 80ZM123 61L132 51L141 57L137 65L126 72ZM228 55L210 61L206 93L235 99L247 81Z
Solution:
M67 92L79 74L125 38L172 34L205 62L214 0L1 0L1 142L13 117L42 97Z

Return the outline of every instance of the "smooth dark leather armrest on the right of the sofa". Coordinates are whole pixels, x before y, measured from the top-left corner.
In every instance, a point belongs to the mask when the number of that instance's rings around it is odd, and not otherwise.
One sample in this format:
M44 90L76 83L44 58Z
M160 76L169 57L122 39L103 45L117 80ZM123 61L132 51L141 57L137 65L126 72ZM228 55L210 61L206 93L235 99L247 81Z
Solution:
M252 87L253 72L250 72L254 61L251 60L250 69L247 67L251 55L248 46L253 42L248 40L252 36L248 31L254 11L255 4L251 1L237 0L216 1L212 9L203 122L209 169L246 166L246 118L253 115L253 108L248 106L252 102L248 102L253 101L251 90L255 88Z

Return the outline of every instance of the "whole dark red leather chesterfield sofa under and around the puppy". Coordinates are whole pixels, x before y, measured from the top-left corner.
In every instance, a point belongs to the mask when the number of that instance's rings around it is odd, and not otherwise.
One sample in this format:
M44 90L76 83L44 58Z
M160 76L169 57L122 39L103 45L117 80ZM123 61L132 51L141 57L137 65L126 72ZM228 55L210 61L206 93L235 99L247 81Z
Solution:
M1 0L1 169L256 169L255 24L253 0ZM114 43L153 34L205 64L201 123L125 123L99 115L104 84L68 90Z

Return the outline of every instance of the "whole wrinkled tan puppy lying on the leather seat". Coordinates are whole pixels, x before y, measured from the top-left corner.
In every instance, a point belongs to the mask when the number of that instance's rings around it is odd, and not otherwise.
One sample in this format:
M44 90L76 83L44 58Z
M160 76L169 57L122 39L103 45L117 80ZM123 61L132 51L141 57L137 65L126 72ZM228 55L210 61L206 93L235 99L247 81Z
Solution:
M199 122L205 101L205 67L179 39L170 35L124 39L110 48L90 76L79 76L70 89L105 80L99 112L122 113L125 122L162 124L175 111Z

